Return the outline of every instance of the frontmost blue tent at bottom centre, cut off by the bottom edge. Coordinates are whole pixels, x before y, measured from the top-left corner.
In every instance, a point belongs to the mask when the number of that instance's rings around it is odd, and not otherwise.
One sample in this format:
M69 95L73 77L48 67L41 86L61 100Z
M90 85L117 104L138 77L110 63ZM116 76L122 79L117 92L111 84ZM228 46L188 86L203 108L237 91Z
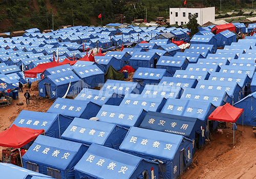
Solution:
M74 170L76 178L159 178L158 163L96 144L89 147Z

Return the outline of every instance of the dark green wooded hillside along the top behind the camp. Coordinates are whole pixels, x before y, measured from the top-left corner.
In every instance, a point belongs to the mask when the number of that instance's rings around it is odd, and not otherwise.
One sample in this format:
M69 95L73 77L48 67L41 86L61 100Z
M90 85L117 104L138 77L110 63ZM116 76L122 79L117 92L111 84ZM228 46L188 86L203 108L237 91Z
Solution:
M109 23L131 23L134 19L155 21L169 16L172 7L211 7L220 11L219 0L2 0L0 5L0 31L17 31L29 28L54 30L61 25L99 26ZM222 0L222 11L231 12L250 8L250 0ZM256 6L256 4L255 4ZM52 14L54 14L52 18ZM97 16L102 14L102 18Z

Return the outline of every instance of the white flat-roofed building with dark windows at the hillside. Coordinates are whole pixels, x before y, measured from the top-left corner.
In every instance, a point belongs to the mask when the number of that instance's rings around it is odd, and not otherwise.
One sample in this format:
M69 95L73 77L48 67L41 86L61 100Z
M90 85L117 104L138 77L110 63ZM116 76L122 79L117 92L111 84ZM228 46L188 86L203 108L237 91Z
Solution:
M196 14L197 23L202 26L208 21L215 21L215 7L210 8L170 8L170 25L188 23L188 17Z

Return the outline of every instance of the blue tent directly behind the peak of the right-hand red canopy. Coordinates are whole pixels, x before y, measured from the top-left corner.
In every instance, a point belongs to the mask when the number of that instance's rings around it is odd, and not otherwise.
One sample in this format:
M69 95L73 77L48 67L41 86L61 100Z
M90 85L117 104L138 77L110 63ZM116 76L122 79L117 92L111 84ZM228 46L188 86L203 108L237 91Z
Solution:
M231 98L231 101L228 101L231 105L244 97L244 95L242 95L242 88L235 81L225 82L200 80L197 84L196 89L211 89L212 91L219 91L220 93L226 92Z

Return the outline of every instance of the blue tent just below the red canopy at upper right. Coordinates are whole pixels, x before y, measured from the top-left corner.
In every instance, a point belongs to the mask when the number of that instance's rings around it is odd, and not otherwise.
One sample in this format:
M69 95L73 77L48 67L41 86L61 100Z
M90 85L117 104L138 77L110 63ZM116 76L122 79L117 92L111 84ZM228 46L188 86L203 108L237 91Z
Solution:
M237 35L229 30L222 31L214 37L217 39L217 47L230 46L232 42L237 42Z

